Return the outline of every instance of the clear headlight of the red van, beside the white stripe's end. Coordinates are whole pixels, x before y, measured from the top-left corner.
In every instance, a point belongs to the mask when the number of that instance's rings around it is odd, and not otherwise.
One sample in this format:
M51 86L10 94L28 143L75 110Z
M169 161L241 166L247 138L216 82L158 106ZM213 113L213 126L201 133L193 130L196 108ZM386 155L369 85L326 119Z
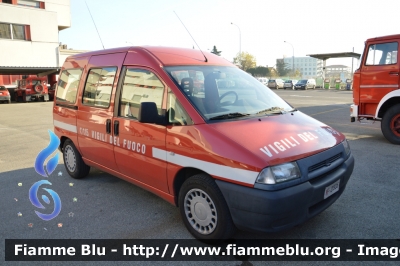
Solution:
M277 184L301 176L299 167L296 162L285 163L264 168L256 179L261 184Z

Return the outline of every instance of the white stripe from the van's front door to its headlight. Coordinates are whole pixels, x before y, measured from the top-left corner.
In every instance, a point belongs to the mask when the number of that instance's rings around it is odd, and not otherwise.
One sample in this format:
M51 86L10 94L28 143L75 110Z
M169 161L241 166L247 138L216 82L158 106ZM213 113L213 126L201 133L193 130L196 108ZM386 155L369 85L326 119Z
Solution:
M233 168L225 165L197 160L191 157L179 155L176 153L170 153L154 147L152 149L152 152L154 158L180 165L182 167L198 168L204 170L211 175L220 176L229 180L234 180L246 184L253 185L259 174L258 172L250 170L243 170L239 168Z

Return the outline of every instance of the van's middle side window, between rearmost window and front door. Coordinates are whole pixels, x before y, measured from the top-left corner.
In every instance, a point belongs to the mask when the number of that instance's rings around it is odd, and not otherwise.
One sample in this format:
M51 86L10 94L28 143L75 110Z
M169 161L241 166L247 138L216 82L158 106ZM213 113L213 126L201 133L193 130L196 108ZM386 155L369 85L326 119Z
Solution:
M108 108L116 72L117 67L92 68L83 91L83 104Z

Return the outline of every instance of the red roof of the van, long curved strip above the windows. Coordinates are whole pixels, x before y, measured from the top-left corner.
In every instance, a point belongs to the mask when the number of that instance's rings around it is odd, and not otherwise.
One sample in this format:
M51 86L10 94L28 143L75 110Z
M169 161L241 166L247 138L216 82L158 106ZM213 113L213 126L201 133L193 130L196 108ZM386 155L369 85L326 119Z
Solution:
M163 46L132 46L112 48L105 50L92 51L69 56L68 59L78 59L81 57L113 54L113 53L147 53L156 57L163 65L226 65L234 66L231 62L221 56L214 55L203 51L207 57L207 62L200 50L178 48L178 47L163 47Z

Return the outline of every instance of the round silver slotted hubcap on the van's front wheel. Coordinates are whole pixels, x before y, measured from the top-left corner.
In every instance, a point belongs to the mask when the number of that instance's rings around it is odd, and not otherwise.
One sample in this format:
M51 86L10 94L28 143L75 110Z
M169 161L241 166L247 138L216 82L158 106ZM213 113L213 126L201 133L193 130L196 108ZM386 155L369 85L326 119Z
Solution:
M200 234L209 235L217 226L217 209L210 196L192 189L185 196L185 214L190 225Z

